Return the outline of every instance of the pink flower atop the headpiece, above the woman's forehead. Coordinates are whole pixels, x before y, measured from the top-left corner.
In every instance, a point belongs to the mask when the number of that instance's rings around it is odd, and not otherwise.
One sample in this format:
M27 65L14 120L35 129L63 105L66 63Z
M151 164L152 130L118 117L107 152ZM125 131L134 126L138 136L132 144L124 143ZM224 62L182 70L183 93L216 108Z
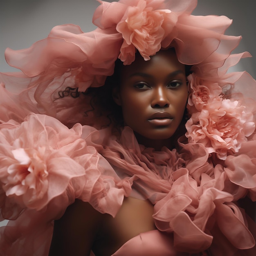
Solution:
M119 58L129 65L135 60L136 49L145 61L161 48L162 40L173 30L177 15L168 9L155 9L150 1L139 0L137 6L129 6L117 31L124 38Z

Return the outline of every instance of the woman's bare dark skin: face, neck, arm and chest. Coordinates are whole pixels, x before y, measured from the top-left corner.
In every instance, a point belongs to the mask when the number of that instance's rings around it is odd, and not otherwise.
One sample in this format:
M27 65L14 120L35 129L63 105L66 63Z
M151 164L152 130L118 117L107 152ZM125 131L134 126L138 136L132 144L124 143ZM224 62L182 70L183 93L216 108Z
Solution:
M168 50L158 52L146 64L136 58L121 72L121 85L114 89L113 99L123 110L125 125L134 130L140 144L156 150L173 148L188 97L184 65ZM155 112L165 114L152 122L150 116ZM90 255L91 250L96 256L112 255L131 238L156 229L152 215L148 200L124 198L115 218L76 200L54 222L49 255Z

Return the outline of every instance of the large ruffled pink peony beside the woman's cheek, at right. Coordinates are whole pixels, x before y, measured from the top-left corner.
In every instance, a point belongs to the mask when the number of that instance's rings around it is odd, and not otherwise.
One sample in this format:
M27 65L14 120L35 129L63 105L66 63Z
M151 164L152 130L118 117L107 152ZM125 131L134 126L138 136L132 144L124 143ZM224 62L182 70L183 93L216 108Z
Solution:
M223 99L205 105L201 112L191 115L186 123L190 143L202 143L209 153L225 160L238 152L255 129L253 115L240 101Z

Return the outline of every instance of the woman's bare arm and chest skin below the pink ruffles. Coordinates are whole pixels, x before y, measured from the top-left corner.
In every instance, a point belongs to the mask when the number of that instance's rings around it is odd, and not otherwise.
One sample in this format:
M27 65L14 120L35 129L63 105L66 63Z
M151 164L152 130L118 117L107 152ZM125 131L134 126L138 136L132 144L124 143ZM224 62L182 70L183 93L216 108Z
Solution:
M76 200L64 216L54 222L49 255L111 255L126 241L155 229L153 205L125 198L117 216L101 214L89 203Z

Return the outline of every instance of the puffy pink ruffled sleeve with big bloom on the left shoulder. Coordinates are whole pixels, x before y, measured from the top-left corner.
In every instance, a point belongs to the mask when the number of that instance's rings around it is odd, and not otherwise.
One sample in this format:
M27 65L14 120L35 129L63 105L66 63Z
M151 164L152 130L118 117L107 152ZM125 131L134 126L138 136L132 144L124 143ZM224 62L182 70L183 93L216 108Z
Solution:
M130 183L81 136L81 124L69 129L46 115L0 125L0 219L10 220L1 255L47 255L52 221L76 198L115 216Z

